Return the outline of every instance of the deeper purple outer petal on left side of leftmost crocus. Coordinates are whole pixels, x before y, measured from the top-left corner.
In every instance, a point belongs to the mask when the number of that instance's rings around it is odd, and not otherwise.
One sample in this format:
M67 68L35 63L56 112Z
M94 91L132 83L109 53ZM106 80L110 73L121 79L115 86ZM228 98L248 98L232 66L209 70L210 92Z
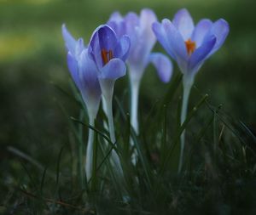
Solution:
M71 54L71 52L67 53L67 67L77 87L81 88L78 61L73 57L73 54Z

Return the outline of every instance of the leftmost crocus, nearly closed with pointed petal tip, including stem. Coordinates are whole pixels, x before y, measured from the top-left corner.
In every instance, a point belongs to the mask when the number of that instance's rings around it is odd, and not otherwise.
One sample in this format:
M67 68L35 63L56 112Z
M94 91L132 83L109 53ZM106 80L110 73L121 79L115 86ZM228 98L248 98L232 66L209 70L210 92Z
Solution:
M102 95L95 62L90 59L83 39L79 38L76 41L65 25L62 25L62 35L67 47L68 69L86 105L90 125L94 126ZM90 129L85 161L87 180L90 180L92 173L93 139L94 132Z

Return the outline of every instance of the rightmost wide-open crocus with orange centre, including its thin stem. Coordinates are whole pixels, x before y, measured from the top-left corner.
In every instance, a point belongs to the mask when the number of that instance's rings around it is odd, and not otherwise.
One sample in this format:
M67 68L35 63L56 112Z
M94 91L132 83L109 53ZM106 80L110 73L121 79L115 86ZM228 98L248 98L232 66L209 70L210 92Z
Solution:
M194 25L188 10L183 8L175 14L172 21L164 19L161 23L155 22L153 31L160 44L172 59L177 61L177 65L183 72L183 106L181 113L181 123L183 123L195 74L200 70L204 61L223 45L229 33L229 25L223 19L215 22L203 19L197 25ZM179 172L182 168L183 148L184 133L181 136Z

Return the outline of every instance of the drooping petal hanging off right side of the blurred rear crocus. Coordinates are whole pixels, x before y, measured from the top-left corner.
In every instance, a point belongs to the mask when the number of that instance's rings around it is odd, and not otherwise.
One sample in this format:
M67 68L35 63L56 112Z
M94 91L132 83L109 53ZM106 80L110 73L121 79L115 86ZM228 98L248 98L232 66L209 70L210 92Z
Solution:
M149 61L155 66L158 76L162 82L169 82L172 77L172 62L164 54L153 53Z

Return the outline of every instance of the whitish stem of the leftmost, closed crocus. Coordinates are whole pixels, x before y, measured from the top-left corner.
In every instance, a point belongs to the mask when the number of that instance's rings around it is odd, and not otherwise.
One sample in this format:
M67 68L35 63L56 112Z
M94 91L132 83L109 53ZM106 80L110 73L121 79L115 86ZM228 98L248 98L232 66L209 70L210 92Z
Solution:
M90 126L94 127L95 118L90 116ZM92 162L93 162L93 141L94 141L94 131L89 128L89 136L86 149L86 160L85 160L85 173L87 182L90 180L92 175Z

